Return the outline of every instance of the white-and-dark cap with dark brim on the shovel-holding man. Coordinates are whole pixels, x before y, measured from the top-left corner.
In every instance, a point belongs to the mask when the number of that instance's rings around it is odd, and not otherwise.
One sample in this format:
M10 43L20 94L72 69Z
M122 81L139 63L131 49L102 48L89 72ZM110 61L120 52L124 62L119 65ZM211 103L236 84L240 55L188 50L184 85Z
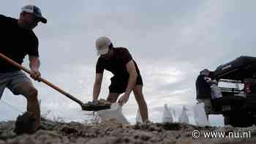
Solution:
M39 9L39 7L36 7L34 5L26 5L22 7L21 12L29 12L33 13L42 23L47 23L46 18L42 17L42 12Z

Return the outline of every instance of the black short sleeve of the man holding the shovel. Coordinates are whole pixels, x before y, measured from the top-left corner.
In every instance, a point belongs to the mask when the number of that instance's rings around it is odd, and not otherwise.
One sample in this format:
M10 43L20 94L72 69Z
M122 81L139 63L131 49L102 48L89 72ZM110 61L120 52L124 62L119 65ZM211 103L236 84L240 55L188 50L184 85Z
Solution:
M38 52L38 39L37 36L33 33L31 34L31 41L29 42L29 56L37 56L39 57L39 52Z

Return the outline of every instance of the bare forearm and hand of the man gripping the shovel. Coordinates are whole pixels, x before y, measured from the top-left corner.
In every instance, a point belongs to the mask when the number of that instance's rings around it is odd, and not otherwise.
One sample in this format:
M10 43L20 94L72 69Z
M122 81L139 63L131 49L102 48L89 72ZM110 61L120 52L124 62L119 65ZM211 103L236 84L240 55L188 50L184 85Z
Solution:
M41 76L39 72L40 61L37 56L29 56L29 67L31 69L30 76L34 78L34 80L37 80L37 78Z

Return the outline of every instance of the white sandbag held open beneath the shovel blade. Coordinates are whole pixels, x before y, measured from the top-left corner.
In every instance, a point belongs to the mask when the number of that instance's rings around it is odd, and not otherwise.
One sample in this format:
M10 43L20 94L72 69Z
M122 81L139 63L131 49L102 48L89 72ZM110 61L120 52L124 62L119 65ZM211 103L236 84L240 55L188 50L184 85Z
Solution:
M110 118L115 118L118 123L129 124L127 118L122 113L122 108L117 103L111 104L110 109L108 110L99 110L97 111L101 121L106 121Z

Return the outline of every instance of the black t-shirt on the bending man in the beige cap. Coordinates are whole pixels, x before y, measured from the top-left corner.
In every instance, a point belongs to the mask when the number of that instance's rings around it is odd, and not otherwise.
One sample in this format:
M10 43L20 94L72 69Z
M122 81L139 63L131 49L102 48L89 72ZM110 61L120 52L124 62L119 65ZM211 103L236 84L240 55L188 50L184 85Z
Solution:
M129 77L127 63L131 60L135 64L138 75L140 75L140 70L127 48L113 48L113 56L111 58L105 59L99 56L96 64L96 73L102 73L106 69L116 77Z

